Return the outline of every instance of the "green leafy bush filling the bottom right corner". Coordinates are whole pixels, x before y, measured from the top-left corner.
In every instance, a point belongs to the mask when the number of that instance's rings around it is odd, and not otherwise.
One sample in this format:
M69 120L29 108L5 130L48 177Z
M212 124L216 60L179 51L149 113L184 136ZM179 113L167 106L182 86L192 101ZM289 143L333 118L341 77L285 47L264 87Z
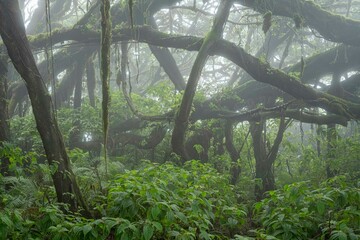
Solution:
M359 239L360 189L337 177L314 187L299 182L256 203L256 232L276 239Z

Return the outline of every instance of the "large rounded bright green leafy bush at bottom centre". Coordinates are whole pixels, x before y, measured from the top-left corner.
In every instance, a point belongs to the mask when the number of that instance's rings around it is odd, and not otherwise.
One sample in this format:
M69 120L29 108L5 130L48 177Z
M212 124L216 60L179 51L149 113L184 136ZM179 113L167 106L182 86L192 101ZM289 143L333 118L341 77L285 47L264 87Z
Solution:
M155 239L213 239L245 222L228 178L196 161L184 168L148 164L120 175L109 191L108 214Z

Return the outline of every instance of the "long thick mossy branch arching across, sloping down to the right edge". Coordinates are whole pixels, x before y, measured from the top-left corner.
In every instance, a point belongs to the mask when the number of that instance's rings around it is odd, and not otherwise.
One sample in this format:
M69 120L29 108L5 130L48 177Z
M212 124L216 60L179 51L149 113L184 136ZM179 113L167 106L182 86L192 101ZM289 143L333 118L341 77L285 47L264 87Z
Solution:
M157 46L174 47L189 51L198 51L203 43L203 39L189 36L176 36L161 33L150 29L149 27L137 28L136 36L131 29L115 30L113 40L136 39L141 42L150 43ZM93 31L80 32L69 30L64 32L72 40L86 42L98 41L98 33ZM61 35L61 38L64 36ZM270 67L269 64L246 53L241 47L236 46L226 40L217 40L214 47L209 52L210 55L219 55L229 59L236 65L242 67L255 80L270 84L289 95L306 101L310 106L322 107L325 110L342 115L348 119L357 119L360 117L360 105L344 101L333 97L316 89L306 86L301 81L291 75L287 75L281 70Z

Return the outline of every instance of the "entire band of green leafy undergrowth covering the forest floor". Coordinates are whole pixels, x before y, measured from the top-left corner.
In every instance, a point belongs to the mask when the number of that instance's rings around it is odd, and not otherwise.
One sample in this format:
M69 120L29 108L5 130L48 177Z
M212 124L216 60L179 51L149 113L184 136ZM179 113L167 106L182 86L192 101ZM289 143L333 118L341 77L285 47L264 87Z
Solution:
M7 154L16 159L20 152ZM359 183L345 176L241 202L245 192L210 164L143 161L104 182L101 164L84 168L79 154L74 172L96 217L56 203L51 167L22 155L13 176L0 176L0 239L360 239Z

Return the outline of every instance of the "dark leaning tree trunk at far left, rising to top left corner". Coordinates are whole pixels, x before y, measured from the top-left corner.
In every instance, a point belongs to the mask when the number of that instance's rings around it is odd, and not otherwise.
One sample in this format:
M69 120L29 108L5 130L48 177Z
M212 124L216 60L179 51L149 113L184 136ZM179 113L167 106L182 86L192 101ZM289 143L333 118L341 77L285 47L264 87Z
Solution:
M26 82L48 163L57 167L52 175L57 199L69 204L71 210L77 210L80 204L87 211L70 168L51 97L30 50L18 1L0 0L0 33L14 67Z

